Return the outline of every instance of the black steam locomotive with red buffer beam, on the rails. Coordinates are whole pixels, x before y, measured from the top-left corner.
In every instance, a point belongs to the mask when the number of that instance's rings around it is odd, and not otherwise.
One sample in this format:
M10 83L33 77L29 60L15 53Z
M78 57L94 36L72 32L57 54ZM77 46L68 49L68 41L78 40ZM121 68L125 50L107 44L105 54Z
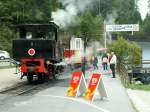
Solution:
M18 39L13 40L13 59L19 62L23 78L31 83L36 76L39 81L57 79L63 71L63 53L58 41L58 26L53 23L21 23L15 25Z

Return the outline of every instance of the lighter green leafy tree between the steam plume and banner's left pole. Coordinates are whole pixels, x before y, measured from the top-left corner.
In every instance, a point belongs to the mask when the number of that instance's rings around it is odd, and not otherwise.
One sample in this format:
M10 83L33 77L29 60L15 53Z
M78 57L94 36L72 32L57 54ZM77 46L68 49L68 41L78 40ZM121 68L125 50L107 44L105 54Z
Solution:
M68 28L70 34L77 35L87 40L100 40L103 32L102 18L93 16L90 11L86 11L76 18L77 25Z

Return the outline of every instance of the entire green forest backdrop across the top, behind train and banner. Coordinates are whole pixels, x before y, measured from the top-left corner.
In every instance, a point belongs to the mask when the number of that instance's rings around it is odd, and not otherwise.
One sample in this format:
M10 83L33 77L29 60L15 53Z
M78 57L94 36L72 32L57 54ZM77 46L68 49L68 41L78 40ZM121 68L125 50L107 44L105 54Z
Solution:
M52 12L65 9L61 0L1 0L0 1L0 49L11 51L11 40L15 38L13 24L21 21L51 21ZM68 2L69 0L63 0ZM84 11L77 13L79 24L62 30L88 40L101 40L104 20L109 24L140 24L137 34L149 35L150 15L141 19L138 0L93 0Z

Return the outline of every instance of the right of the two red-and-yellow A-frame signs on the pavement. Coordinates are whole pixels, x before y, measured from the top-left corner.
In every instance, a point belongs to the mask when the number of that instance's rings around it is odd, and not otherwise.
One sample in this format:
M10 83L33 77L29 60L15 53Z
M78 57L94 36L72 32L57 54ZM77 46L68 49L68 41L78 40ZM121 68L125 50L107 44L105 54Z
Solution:
M85 91L85 99L93 101L97 89L101 97L107 97L107 93L102 81L102 75L100 73L93 73L89 81L88 88Z

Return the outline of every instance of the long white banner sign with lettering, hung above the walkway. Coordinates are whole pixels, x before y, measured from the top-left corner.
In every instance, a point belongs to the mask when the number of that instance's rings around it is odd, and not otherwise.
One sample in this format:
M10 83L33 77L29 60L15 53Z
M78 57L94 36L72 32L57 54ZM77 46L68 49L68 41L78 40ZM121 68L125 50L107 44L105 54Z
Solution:
M139 24L106 25L106 32L139 31Z

